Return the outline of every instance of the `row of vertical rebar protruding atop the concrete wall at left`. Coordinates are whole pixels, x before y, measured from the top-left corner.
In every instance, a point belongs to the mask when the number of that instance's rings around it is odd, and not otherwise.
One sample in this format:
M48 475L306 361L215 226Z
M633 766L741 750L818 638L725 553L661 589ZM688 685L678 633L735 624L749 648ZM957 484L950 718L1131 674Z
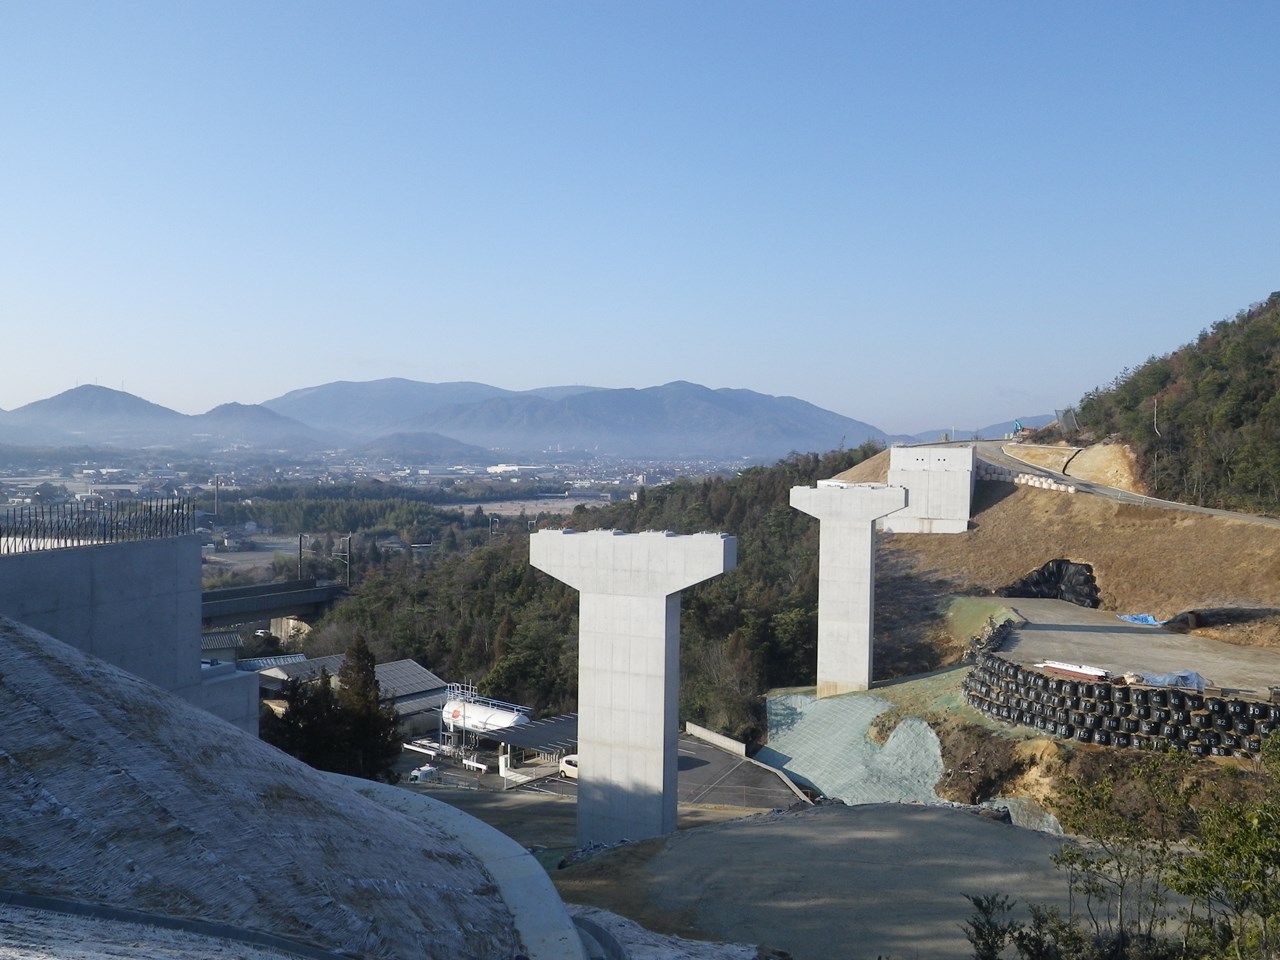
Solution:
M180 497L12 507L0 513L0 554L186 536L193 517Z

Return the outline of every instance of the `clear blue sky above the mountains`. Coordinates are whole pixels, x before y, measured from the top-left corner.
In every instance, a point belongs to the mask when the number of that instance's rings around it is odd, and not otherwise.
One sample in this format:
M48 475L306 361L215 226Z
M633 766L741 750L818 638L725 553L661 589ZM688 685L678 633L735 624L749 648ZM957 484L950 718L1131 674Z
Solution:
M1280 4L0 4L0 408L1076 402L1280 289Z

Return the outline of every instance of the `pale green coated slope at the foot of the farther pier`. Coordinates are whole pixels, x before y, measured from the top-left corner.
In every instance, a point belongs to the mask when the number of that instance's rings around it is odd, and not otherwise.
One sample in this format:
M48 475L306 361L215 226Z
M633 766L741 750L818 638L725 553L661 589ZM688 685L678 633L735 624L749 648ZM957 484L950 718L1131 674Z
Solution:
M933 790L943 772L942 748L928 723L905 718L883 745L868 737L876 718L892 708L869 694L769 698L769 742L755 759L846 804L942 803Z

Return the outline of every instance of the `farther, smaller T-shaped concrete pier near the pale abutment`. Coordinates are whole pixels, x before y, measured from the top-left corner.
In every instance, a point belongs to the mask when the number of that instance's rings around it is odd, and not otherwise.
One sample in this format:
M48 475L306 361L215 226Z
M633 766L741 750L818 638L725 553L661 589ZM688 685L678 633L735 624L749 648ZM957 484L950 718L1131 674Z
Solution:
M791 506L818 531L818 696L872 685L876 521L906 506L906 488L819 481L792 486Z

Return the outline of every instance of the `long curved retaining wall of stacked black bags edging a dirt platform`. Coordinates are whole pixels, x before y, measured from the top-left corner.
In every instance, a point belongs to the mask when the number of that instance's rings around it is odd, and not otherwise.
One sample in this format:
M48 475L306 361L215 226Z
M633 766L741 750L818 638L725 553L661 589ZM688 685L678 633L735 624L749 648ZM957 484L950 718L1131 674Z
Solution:
M978 658L964 690L970 707L997 719L1100 746L1251 759L1280 728L1276 703L1059 677L995 654Z

